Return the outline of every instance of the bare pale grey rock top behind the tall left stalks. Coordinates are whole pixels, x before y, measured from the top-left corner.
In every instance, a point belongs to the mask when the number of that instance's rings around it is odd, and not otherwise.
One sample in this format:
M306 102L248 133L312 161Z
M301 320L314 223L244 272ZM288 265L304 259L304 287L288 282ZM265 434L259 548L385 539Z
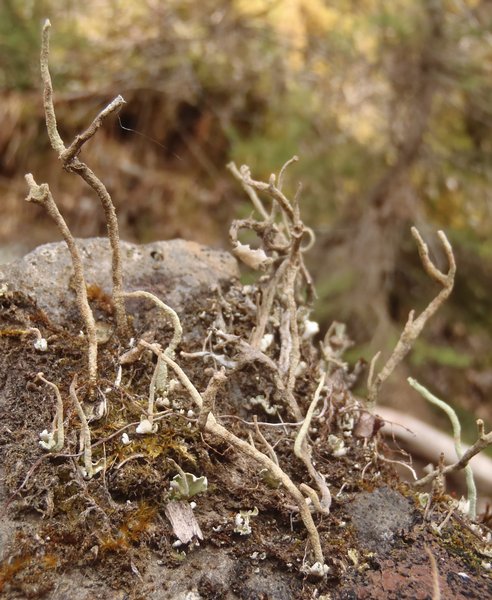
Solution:
M86 283L111 295L111 252L106 238L77 240ZM147 290L178 313L198 291L239 276L228 252L195 242L171 240L145 245L121 242L125 291ZM21 259L0 267L0 285L36 299L50 319L62 324L77 311L70 284L72 263L64 242L39 246ZM135 304L135 303L133 303ZM130 304L131 306L131 304ZM130 309L131 310L131 309Z

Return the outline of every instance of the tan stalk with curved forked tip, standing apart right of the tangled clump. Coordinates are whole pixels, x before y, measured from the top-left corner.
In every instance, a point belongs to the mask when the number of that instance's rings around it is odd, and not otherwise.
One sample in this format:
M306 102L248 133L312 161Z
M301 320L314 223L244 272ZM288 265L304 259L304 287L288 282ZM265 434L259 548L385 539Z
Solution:
M374 408L379 394L379 390L381 389L383 383L386 381L386 379L388 379L388 377L394 371L395 367L408 354L408 352L413 346L413 343L422 332L422 329L424 328L427 321L432 317L432 315L437 311L437 309L442 305L442 303L448 298L453 289L454 276L456 273L456 263L454 260L453 249L451 248L451 244L449 243L444 232L438 231L437 235L441 240L441 244L444 248L444 252L448 260L449 268L447 273L442 273L432 263L432 261L429 258L429 249L427 248L427 245L422 239L417 228L412 227L411 232L413 237L415 238L415 241L417 242L417 248L425 272L432 279L440 283L443 286L443 289L416 319L414 318L415 312L413 310L410 311L408 320L405 324L402 334L400 335L400 339L398 340L398 343L396 344L395 349L393 350L393 353L389 357L384 367L378 373L378 375L374 378L373 381L371 381L371 385L369 386L367 396L370 408Z

